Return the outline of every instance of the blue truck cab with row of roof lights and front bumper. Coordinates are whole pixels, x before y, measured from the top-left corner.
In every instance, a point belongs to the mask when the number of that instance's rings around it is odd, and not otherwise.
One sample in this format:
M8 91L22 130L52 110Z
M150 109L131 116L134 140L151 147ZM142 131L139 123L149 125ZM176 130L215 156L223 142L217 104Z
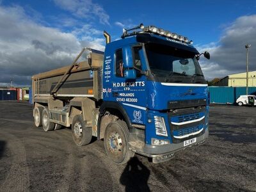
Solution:
M203 143L209 126L200 53L188 38L162 32L154 26L140 33L125 31L122 39L106 45L100 108L101 114L105 108L120 111L129 129L129 149L153 157L154 163ZM112 136L109 152L118 140Z

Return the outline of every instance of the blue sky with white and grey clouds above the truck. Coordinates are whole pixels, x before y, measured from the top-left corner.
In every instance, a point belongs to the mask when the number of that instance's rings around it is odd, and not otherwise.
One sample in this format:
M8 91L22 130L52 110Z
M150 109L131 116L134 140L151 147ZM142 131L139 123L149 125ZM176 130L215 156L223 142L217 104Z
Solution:
M256 1L0 0L0 86L68 65L82 47L104 51L122 28L155 25L188 36L211 60L201 59L207 79L245 71L245 44L256 70Z

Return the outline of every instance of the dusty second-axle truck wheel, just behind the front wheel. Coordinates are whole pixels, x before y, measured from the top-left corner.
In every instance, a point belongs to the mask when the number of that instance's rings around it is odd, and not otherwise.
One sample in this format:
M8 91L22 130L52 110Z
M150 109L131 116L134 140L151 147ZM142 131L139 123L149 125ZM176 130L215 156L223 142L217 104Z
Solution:
M82 115L76 115L72 120L72 137L78 146L87 145L92 140L92 127L86 127Z

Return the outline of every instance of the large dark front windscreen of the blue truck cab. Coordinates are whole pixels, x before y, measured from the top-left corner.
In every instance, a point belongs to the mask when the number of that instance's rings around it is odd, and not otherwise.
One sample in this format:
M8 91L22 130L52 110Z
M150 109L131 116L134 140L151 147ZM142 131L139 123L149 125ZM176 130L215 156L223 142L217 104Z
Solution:
M148 65L156 81L206 83L194 52L166 45L145 44Z

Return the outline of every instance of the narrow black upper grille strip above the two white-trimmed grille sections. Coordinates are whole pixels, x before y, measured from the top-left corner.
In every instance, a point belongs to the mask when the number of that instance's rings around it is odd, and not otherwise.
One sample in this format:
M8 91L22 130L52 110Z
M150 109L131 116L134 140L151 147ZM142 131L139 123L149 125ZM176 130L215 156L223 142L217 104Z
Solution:
M168 102L168 109L192 108L196 106L206 106L206 99L172 100Z

